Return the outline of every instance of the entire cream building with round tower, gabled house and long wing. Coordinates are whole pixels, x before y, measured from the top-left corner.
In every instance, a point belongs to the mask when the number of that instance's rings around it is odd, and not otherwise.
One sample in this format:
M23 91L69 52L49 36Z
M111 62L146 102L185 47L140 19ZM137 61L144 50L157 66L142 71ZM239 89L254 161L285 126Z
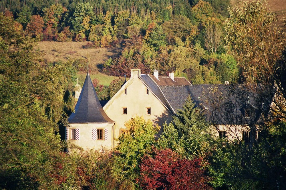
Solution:
M114 139L126 130L126 121L139 115L163 126L171 122L190 96L206 120L216 127L217 136L248 142L255 138L259 124L268 114L272 91L262 85L191 85L184 77L174 77L174 73L160 77L158 71L145 75L133 69L130 79L102 109L87 74L75 113L69 117L66 136L86 149L113 148ZM75 139L71 139L71 130L76 133Z

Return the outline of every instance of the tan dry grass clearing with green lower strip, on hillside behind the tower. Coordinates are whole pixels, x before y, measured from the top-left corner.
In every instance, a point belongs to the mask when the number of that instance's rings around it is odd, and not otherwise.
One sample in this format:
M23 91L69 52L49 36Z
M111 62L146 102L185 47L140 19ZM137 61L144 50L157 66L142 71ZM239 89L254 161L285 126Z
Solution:
M109 85L110 82L118 77L108 76L100 73L100 67L104 62L110 57L113 58L120 54L120 47L111 48L83 48L87 42L38 42L35 47L37 51L43 56L43 61L57 62L57 61L67 61L69 59L84 59L89 62L89 68L91 70L91 79L97 78L102 85ZM77 77L79 78L79 83L84 82L86 73L80 72Z

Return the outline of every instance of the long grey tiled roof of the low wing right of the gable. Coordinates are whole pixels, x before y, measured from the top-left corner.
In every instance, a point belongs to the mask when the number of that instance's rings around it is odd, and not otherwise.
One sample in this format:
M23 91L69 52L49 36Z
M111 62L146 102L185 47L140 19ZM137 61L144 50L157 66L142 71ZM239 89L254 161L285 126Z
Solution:
M195 105L200 107L206 120L214 124L258 124L262 122L261 113L266 113L273 94L262 94L261 86L251 89L243 85L187 85L160 86L173 109L181 109L190 95ZM266 90L265 90L266 91ZM249 97L249 98L248 98ZM264 110L262 110L264 102ZM245 117L245 110L251 111Z

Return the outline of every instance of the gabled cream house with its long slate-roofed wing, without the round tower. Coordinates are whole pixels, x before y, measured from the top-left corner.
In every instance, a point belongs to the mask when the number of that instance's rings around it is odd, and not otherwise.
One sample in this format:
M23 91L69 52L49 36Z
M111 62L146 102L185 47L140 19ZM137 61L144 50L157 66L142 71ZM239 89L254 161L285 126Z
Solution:
M245 141L256 135L252 128L263 123L273 97L262 85L191 85L174 73L160 77L158 71L144 75L132 70L131 78L103 109L115 121L114 137L118 138L125 129L124 122L136 114L160 126L170 122L188 96L215 125L217 136Z

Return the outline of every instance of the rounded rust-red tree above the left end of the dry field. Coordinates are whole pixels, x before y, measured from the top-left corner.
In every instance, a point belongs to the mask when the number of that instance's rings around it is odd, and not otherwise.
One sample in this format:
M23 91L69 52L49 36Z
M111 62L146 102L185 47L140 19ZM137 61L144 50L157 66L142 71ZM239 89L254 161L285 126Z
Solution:
M33 15L27 24L26 32L29 36L36 37L43 33L44 20L40 15Z

